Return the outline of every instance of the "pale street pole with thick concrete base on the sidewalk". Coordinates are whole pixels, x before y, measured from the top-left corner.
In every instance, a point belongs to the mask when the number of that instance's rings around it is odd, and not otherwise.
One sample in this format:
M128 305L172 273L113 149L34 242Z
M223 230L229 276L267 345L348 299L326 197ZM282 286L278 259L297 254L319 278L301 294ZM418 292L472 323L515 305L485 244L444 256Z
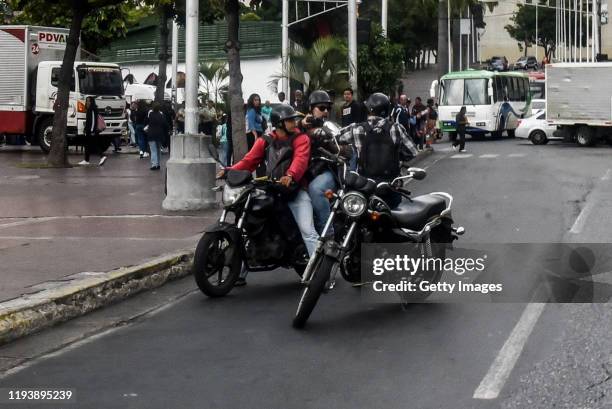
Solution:
M203 210L217 206L216 162L208 154L210 135L198 134L199 2L187 0L185 27L185 134L171 140L166 163L165 210Z

